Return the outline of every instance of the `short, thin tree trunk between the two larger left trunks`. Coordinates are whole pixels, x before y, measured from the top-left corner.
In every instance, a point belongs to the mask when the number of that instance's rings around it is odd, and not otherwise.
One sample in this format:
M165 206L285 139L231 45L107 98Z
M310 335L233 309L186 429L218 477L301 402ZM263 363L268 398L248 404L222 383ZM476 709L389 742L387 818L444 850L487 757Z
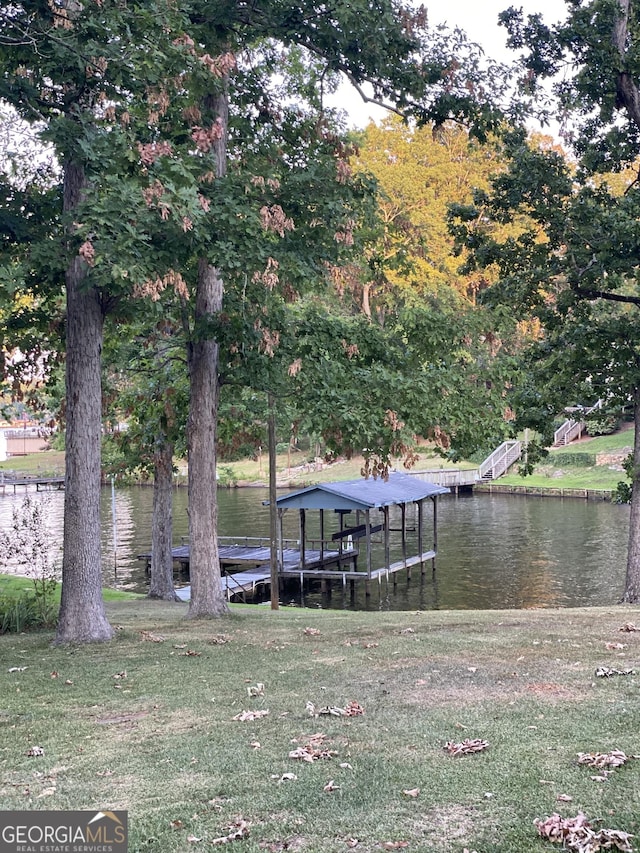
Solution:
M149 598L178 601L173 586L173 444L156 438L151 517L151 584Z

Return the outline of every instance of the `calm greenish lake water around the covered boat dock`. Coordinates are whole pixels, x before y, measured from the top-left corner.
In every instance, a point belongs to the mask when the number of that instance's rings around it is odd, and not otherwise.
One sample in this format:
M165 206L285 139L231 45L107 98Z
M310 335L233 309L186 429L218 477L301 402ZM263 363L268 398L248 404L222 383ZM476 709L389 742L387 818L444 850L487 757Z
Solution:
M62 492L29 494L46 504L52 553L59 559L64 495ZM269 511L262 503L267 497L266 490L223 489L218 494L221 535L268 535ZM13 508L23 499L24 493L0 495L0 529L11 523ZM175 490L176 544L188 532L186 503L186 489ZM143 591L145 573L137 556L150 550L152 489L116 489L115 509L117 547L114 549L112 493L105 488L102 502L105 584ZM309 518L313 515L308 513ZM419 567L414 567L411 580L399 573L396 584L392 580L372 584L372 595L368 598L362 583L355 585L353 599L348 595L343 597L341 587L334 588L330 599L311 589L305 593L304 603L391 610L614 604L624 589L628 526L627 506L599 501L447 495L438 500L435 574L432 575L429 567L421 578ZM426 527L430 530L429 522ZM295 512L285 513L285 536L298 537ZM397 559L400 556L397 539L392 546L392 559ZM374 567L383 564L381 548L375 559ZM283 603L290 600L301 603L299 590L285 593Z

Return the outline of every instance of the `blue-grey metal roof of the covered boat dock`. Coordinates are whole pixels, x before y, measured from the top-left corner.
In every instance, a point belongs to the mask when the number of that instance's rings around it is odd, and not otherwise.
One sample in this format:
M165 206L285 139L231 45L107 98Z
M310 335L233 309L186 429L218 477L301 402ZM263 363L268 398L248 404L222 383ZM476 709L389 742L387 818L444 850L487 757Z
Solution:
M392 473L388 480L364 478L336 483L319 483L276 499L279 509L374 509L394 504L414 503L444 495L449 489L427 483L409 474Z

